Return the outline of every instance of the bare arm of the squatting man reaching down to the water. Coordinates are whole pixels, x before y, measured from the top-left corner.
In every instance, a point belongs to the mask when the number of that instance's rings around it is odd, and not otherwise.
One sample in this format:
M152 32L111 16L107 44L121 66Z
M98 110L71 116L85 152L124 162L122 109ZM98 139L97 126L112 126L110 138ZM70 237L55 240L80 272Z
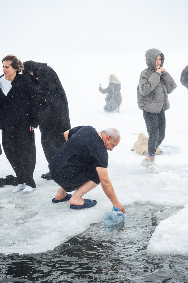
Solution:
M109 200L112 202L113 207L117 207L118 210L122 211L123 213L125 212L125 209L123 205L118 201L118 198L116 197L116 194L114 192L112 183L108 177L108 170L107 168L103 167L96 167L99 180L102 186L102 189L104 193L107 195Z

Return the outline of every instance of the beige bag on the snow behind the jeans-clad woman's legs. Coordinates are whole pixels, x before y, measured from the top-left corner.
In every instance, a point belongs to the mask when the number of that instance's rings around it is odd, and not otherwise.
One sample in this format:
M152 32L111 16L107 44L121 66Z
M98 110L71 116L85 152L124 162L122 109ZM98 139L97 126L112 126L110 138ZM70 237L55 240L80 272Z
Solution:
M146 156L148 151L148 137L145 136L143 133L140 133L138 136L138 141L134 143L133 149L136 152ZM162 150L160 149L160 147L158 147L155 155L162 153L163 153Z

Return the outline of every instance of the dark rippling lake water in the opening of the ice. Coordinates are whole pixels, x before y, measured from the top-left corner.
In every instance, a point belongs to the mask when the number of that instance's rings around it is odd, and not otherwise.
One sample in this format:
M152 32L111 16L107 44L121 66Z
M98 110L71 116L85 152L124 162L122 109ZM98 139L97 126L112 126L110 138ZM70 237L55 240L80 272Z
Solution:
M125 221L116 230L107 230L101 222L52 251L1 255L0 282L188 282L186 256L146 250L159 221L179 209L127 206Z

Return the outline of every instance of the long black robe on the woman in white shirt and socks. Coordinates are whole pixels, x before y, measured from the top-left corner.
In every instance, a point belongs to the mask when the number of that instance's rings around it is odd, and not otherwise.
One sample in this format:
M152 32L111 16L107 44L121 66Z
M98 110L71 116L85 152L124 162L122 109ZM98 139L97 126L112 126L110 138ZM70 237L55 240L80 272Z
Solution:
M5 155L12 165L18 184L35 188L36 163L34 128L39 124L38 95L30 80L17 74L7 96L0 89L0 126Z

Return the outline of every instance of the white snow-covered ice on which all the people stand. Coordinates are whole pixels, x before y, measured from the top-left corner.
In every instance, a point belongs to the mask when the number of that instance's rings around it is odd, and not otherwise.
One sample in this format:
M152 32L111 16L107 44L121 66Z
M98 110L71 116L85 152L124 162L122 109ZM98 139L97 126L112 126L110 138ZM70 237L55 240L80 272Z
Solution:
M85 67L83 64L80 66L83 72ZM122 69L117 73L114 71L122 81L123 103L120 113L104 112L105 95L98 91L99 83L107 87L108 75L113 70L106 70L106 75L103 74L105 79L101 80L98 74L94 76L94 71L92 74L88 72L79 76L77 70L72 68L75 72L72 78L75 80L65 76L62 82L69 102L71 127L91 125L97 131L109 127L115 127L120 131L119 145L112 152L108 152L108 172L117 197L125 207L125 225L128 204L178 207L180 211L177 214L162 220L156 227L149 241L148 252L185 255L188 254L188 91L179 82L181 68L176 75L169 70L178 87L169 95L170 109L166 111L164 142L180 147L180 152L156 156L156 163L164 172L149 173L140 165L144 157L131 151L139 133L148 135L136 98L139 72L146 66L139 68L131 84L125 76L129 69ZM169 68L166 69L168 71ZM84 83L81 80L83 77ZM69 202L52 203L51 200L59 186L53 180L40 178L42 173L48 171L48 164L41 146L39 129L35 129L35 140L36 189L24 194L22 191L13 193L13 186L0 188L0 253L3 254L28 254L52 250L86 230L91 223L102 221L103 214L112 209L112 203L104 194L101 185L84 196L97 200L97 205L93 208L72 210ZM0 177L15 175L4 153L0 156L0 168Z

